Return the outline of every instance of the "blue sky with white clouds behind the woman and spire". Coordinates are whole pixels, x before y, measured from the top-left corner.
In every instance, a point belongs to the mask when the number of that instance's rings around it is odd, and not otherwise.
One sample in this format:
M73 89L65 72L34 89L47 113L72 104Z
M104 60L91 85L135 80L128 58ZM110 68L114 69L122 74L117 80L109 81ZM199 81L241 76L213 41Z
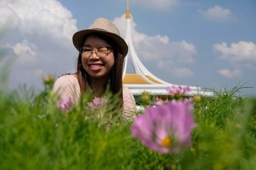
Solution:
M8 31L0 47L15 58L10 86L40 89L42 76L74 72L74 32L106 17L124 36L125 10L125 0L1 1ZM256 87L256 1L130 0L130 10L136 52L159 78L217 90ZM255 88L242 92L256 95Z

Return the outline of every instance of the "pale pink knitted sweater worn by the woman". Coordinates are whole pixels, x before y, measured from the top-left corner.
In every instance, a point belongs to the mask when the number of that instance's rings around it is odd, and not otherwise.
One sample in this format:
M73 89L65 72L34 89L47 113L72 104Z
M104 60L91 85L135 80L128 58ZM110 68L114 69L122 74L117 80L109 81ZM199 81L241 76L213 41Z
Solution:
M70 97L72 97L74 104L77 104L81 97L79 82L76 76L72 74L58 78L54 83L53 92L54 95L59 97L57 101L58 106L60 106L61 100L68 101ZM136 103L130 90L125 86L123 86L123 99L124 108L122 117L124 120L132 120L135 117Z

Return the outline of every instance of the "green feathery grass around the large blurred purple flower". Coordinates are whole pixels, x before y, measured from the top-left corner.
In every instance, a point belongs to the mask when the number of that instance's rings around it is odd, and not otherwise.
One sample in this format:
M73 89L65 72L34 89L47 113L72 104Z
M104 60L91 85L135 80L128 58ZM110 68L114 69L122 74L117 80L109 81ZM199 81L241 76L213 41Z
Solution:
M0 91L0 169L256 169L256 99L235 97L239 88L202 97L193 146L164 155L134 139L130 122L86 113L90 97L63 113L46 89Z

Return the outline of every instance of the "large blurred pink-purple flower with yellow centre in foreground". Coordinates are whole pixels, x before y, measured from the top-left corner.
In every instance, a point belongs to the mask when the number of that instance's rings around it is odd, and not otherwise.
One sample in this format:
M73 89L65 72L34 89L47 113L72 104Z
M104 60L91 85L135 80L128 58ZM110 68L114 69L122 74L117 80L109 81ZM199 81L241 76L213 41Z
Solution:
M182 101L146 108L138 115L131 131L143 145L160 153L177 153L191 146L191 131L195 127L192 105Z

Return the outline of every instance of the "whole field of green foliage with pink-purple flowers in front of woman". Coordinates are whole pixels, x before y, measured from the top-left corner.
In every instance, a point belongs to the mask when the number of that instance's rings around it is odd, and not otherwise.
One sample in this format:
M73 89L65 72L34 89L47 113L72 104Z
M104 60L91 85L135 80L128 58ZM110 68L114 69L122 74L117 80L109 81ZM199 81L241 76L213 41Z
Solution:
M171 87L164 100L145 92L136 97L145 110L124 122L115 97L57 108L52 78L44 82L40 94L0 88L0 169L256 169L256 99L237 97L243 87L212 97Z

